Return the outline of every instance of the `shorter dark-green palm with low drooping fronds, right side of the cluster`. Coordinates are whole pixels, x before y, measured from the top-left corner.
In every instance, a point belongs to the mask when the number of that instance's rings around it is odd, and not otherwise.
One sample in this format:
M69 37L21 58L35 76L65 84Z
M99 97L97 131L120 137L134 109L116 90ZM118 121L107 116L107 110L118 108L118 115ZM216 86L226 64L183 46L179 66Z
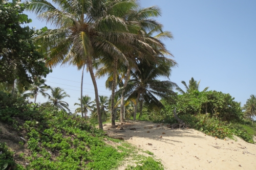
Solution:
M140 70L131 71L132 79L129 80L125 88L125 93L128 101L136 99L134 120L136 119L139 101L143 101L150 109L157 110L163 108L163 105L155 95L161 98L169 98L170 95L176 95L171 90L177 86L175 83L157 80L158 77L168 78L170 76L170 68L173 66L173 60L159 57L158 63L148 63L142 60L138 63Z

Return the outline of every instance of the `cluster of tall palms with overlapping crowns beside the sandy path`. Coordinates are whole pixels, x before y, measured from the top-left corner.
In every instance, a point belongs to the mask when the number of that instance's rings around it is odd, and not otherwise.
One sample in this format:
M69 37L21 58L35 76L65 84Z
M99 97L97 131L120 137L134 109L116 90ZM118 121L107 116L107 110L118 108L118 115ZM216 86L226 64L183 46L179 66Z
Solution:
M170 68L177 63L165 57L172 55L162 40L171 39L172 34L163 31L161 23L154 19L161 14L157 6L141 8L137 0L53 0L53 3L30 1L27 10L55 27L35 37L34 42L40 45L38 51L47 56L46 64L51 68L58 64L75 65L82 72L87 68L94 85L99 128L103 127L97 76L108 75L112 126L118 102L122 122L125 103L134 101L135 119L139 104L159 109L162 105L156 96L174 94L175 83L158 80L168 78Z

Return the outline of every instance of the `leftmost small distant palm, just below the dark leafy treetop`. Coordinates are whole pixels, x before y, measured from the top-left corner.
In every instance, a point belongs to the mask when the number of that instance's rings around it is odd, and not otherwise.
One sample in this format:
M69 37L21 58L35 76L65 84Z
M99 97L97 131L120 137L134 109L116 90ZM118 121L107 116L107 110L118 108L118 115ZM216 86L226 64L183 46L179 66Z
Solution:
M43 81L45 82L45 80ZM29 87L30 93L23 94L24 96L30 96L31 99L34 99L34 103L36 102L36 98L38 94L41 94L46 98L47 94L46 91L50 88L49 86L42 83L42 81L35 79L34 83L31 84Z

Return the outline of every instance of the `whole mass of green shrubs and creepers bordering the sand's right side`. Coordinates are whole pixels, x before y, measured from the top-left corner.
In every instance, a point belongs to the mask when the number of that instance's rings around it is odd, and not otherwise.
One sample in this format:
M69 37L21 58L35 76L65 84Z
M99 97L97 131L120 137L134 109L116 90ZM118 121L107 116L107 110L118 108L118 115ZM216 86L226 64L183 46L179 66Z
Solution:
M229 94L194 90L177 95L174 101L162 100L161 102L164 109L160 112L144 109L143 118L174 124L177 120L173 110L177 108L178 116L191 128L221 139L233 138L233 135L236 135L247 142L254 143L253 135L256 134L256 127L242 112L240 103L235 102Z

